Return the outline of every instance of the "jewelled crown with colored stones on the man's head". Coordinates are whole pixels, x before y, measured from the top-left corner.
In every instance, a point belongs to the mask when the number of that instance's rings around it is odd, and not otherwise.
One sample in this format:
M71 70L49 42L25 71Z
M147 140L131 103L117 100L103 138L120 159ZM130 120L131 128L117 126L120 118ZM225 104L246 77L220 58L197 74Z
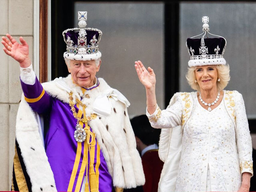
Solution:
M62 32L67 51L64 58L71 60L96 60L101 57L98 49L102 32L95 28L86 28L87 11L78 11L79 28L66 29Z

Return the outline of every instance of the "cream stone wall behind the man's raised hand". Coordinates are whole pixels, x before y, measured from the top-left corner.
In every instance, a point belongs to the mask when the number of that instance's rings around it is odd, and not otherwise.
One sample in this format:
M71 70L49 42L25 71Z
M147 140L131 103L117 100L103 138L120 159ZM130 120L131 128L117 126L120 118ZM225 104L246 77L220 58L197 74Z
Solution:
M36 0L35 0L36 1ZM33 0L0 0L0 36L6 33L28 42L33 59ZM19 64L0 45L0 191L10 190L15 144L15 121L20 96Z

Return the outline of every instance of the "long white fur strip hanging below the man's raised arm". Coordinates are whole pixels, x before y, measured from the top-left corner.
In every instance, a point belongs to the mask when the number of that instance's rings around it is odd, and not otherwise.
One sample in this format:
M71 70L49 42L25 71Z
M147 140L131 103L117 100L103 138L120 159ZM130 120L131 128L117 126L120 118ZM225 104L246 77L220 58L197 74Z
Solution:
M16 140L30 176L32 192L57 191L53 172L40 138L36 116L24 100L24 94L16 118Z

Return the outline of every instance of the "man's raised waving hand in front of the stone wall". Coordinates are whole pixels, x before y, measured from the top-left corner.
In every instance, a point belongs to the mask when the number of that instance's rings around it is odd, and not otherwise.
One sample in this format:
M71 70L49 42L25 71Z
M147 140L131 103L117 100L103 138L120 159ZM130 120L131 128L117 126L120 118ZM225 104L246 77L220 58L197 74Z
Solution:
M2 37L4 52L18 61L21 67L26 68L30 66L31 60L28 55L28 44L26 41L20 37L21 44L19 44L10 34L6 34L6 37Z

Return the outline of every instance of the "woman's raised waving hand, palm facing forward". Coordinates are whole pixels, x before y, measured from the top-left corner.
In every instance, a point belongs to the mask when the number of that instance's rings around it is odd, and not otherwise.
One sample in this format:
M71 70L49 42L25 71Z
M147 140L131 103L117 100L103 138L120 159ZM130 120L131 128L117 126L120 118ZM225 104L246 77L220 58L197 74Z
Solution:
M145 86L146 89L155 89L156 86L156 75L152 68L148 67L148 70L144 67L141 61L135 62L136 72L140 82Z

